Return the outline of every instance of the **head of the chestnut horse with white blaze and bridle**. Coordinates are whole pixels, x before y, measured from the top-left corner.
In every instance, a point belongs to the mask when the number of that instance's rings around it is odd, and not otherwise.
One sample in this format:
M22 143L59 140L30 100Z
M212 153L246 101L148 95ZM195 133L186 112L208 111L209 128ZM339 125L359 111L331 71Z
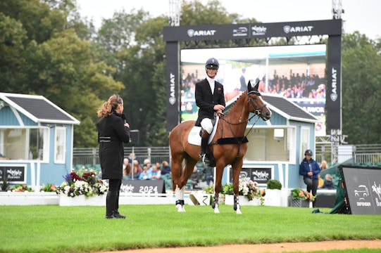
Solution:
M253 112L263 120L268 120L271 117L271 111L267 108L266 103L261 98L261 93L258 91L259 81L256 86L251 87L251 82L247 84L247 103L249 103L249 112Z

